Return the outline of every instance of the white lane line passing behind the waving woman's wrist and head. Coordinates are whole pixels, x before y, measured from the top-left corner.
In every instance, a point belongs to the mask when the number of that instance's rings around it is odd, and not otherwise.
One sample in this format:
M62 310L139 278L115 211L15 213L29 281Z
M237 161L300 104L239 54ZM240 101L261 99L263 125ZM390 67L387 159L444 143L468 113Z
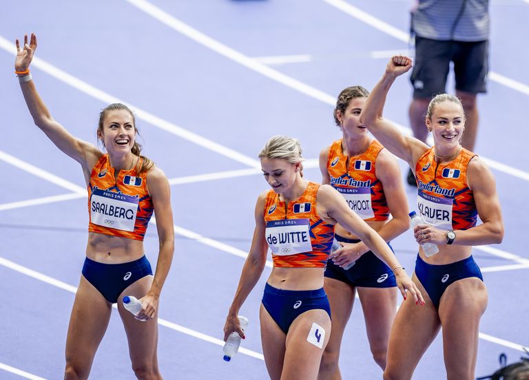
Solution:
M3 36L0 36L0 47L3 50L6 50L6 52L9 52L10 54L17 54L14 45L10 41L5 39ZM125 105L128 105L129 108L134 111L138 118L144 120L145 122L151 125L154 125L154 127L158 127L180 138L184 138L185 140L194 142L194 144L196 145L209 149L210 151L214 151L218 154L221 154L222 156L227 156L232 160L242 162L243 164L248 165L249 167L260 167L258 160L245 156L244 154L240 154L238 151L234 151L233 149L220 145L217 142L214 142L203 136L188 131L183 127L179 127L174 123L170 123L169 121L164 120L163 118L158 118L158 116L154 116L153 114L150 114L149 112L144 111L143 109L136 107L135 105L122 101L116 96L107 94L106 92L103 92L100 89L97 89L96 87L89 85L84 81L81 81L79 78L76 78L63 70L60 70L59 68L54 67L53 65L50 65L50 63L39 59L39 57L37 56L33 58L32 67L38 67L43 72L46 72L47 74L50 74L50 76L59 79L59 81L62 81L76 89L79 89L79 91L84 92L85 94L92 96L93 98L96 98L99 101L102 101L103 103L123 103Z

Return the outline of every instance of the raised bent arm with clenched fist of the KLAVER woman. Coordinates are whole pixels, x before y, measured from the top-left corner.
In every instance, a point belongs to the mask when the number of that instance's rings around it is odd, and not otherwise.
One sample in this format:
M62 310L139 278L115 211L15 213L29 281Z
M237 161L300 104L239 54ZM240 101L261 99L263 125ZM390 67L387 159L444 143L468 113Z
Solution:
M366 104L360 114L360 122L379 140L388 151L398 158L413 165L420 156L428 149L428 145L416 138L404 136L390 120L385 119L382 114L386 104L386 96L395 78L412 67L411 59L406 56L393 56L380 81L369 94Z

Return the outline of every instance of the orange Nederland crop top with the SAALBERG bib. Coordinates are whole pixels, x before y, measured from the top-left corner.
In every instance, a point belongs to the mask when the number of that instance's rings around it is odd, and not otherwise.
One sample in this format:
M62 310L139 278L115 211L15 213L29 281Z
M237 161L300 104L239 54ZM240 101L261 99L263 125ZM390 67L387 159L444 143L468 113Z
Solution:
M143 241L154 208L147 172L138 175L136 167L119 171L116 180L108 155L101 156L87 187L88 231Z

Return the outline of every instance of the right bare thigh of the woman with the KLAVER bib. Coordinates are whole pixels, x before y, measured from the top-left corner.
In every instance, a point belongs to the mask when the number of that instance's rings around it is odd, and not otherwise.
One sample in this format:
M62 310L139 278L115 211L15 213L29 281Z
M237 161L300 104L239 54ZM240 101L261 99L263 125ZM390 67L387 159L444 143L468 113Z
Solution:
M450 379L469 379L474 375L479 320L487 301L486 287L477 277L450 284L441 297L444 363Z

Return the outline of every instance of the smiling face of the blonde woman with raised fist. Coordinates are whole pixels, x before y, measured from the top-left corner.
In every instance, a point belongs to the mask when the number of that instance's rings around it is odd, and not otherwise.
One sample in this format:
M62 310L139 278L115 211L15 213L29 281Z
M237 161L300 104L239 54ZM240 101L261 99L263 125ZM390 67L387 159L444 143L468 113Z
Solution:
M459 145L465 129L463 107L453 101L441 101L435 104L431 115L426 117L426 127L433 134L438 148L450 151Z

